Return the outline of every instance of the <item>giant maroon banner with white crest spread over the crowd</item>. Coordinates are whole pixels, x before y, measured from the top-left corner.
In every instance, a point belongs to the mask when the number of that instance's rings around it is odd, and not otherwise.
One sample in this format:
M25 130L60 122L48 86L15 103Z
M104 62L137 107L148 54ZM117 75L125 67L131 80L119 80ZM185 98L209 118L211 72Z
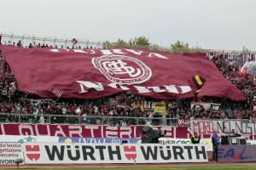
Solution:
M170 54L142 49L56 49L0 46L18 86L44 98L95 99L131 91L155 99L195 95L192 77L206 81L199 96L243 100L206 54Z

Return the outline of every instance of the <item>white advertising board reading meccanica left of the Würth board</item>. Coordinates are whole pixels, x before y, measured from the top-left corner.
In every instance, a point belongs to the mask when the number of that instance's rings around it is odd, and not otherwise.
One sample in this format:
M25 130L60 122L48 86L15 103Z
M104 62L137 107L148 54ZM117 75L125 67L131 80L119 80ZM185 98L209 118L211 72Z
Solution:
M20 158L23 159L22 144L0 142L0 165L14 165Z

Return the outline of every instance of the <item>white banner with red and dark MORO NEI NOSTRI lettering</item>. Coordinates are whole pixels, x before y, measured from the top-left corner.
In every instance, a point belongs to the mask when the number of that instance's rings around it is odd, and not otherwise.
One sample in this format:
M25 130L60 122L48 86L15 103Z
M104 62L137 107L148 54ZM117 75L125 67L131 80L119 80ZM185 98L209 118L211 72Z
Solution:
M193 133L198 132L203 138L209 138L213 131L216 130L218 134L229 134L232 129L236 130L236 133L240 133L247 139L255 139L256 122L247 121L199 121L191 120L190 128Z

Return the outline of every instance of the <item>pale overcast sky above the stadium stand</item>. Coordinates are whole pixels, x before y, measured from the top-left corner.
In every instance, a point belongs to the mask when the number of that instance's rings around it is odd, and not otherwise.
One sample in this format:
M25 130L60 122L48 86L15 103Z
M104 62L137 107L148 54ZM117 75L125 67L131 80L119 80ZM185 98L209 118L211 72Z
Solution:
M256 1L0 0L0 32L256 50Z

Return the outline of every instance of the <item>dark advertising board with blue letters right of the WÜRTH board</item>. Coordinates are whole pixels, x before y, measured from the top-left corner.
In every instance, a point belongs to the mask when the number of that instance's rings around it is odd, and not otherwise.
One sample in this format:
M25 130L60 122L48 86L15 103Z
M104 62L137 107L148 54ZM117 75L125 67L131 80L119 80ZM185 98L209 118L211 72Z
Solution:
M256 145L220 145L219 162L256 161Z

